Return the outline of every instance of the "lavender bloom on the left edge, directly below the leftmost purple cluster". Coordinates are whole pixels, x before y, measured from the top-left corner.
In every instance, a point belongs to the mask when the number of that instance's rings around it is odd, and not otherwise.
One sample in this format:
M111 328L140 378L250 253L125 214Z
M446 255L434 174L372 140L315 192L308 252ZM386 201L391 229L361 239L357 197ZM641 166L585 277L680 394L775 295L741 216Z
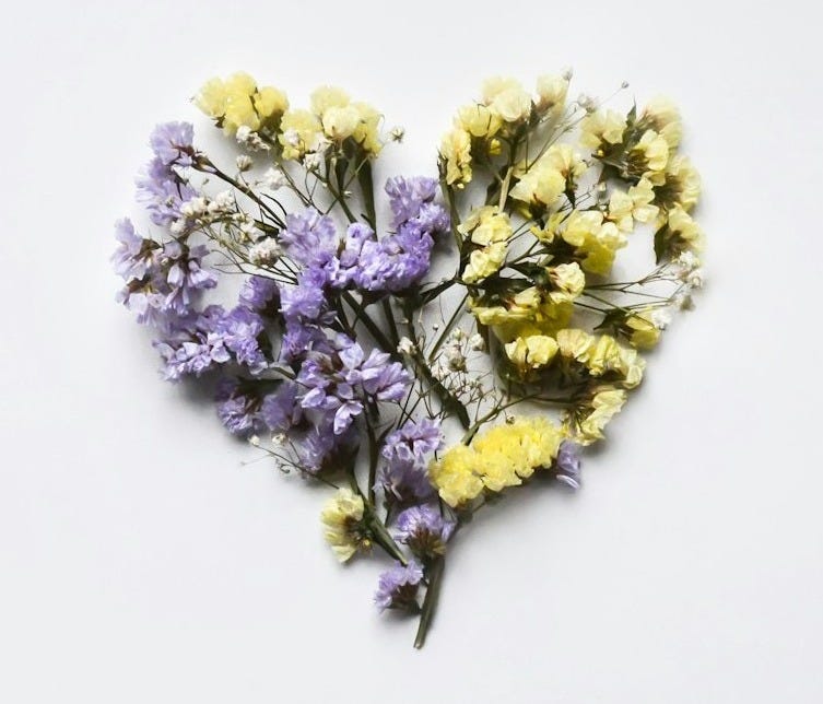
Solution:
M232 359L223 337L215 331L224 315L222 307L209 306L201 314L192 313L171 322L166 339L153 343L165 362L166 379L200 376Z

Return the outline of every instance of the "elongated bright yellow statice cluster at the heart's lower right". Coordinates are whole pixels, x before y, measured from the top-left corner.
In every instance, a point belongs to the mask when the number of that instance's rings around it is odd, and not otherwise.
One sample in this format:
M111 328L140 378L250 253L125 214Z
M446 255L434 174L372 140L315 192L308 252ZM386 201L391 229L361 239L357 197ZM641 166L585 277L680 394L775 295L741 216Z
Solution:
M563 438L563 431L545 418L516 418L479 435L471 446L450 447L431 464L428 476L440 498L457 508L483 491L517 486L537 469L550 467Z

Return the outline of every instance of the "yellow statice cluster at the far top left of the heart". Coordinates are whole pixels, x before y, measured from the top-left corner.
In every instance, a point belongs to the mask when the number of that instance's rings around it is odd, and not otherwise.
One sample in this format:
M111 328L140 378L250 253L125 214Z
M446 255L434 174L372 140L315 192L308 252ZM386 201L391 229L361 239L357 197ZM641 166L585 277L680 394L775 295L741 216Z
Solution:
M285 93L272 86L258 87L248 73L235 73L227 79L208 81L195 97L195 104L216 120L226 134L245 127L274 131L289 109Z

